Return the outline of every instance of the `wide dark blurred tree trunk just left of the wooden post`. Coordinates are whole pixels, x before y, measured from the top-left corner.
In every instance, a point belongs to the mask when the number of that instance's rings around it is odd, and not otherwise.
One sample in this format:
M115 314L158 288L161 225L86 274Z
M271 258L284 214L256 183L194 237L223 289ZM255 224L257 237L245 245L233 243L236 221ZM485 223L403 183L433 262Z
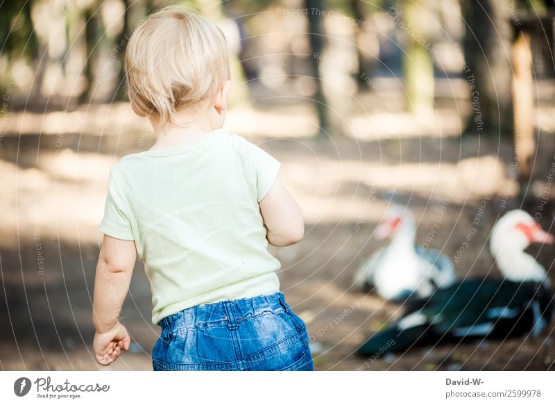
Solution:
M462 8L467 24L464 53L470 74L475 78L477 93L473 98L478 97L463 133L512 136L513 28L508 3L500 0L463 0Z

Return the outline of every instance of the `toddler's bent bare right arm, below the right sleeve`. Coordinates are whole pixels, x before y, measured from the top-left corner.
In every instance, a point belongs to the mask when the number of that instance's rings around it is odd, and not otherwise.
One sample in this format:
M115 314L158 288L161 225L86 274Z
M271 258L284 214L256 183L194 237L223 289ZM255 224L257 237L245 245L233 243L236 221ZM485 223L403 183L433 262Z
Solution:
M305 220L295 199L280 179L275 180L259 205L271 245L284 247L302 239Z

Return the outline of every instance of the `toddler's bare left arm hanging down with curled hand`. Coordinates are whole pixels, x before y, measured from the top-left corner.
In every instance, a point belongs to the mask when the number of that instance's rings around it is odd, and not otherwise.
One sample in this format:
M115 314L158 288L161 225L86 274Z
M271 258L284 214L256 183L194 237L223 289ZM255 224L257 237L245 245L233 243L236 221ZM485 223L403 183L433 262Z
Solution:
M129 349L130 337L119 323L119 313L129 290L136 257L133 240L104 235L96 265L92 312L96 329L93 349L102 365L115 361L121 349Z

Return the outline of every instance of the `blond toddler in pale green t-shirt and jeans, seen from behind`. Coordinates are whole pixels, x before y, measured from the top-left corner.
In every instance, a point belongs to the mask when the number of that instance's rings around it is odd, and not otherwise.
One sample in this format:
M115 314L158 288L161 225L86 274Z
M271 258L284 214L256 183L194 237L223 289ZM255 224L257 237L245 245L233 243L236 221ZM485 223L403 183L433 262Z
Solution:
M223 33L187 8L164 8L131 36L126 76L130 104L157 140L110 170L96 361L129 349L119 313L138 254L162 328L154 370L312 370L307 328L267 251L302 238L302 213L278 160L221 129L231 84Z

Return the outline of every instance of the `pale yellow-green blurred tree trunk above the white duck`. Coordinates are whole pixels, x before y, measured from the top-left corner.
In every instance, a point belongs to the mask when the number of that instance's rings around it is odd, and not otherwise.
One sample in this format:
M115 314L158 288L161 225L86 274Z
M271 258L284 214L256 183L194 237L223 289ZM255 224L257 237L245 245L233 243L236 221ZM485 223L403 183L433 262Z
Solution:
M426 49L427 16L422 0L403 0L402 18L410 26L410 32L419 35L425 41L420 44L407 31L407 47L402 54L404 87L407 93L408 107L413 113L429 113L434 109L434 63L432 55Z

